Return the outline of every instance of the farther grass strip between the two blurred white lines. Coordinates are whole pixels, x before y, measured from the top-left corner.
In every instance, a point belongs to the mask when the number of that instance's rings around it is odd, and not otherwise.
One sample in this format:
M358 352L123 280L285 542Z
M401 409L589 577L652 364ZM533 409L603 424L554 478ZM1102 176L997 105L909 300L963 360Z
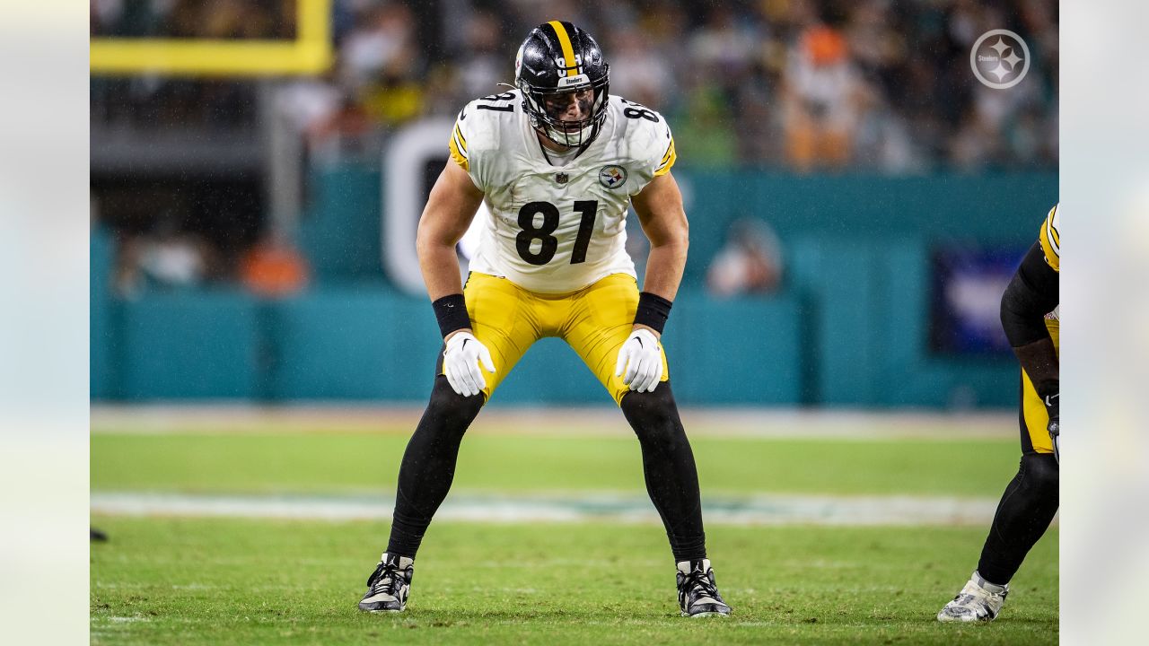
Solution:
M394 487L406 436L94 434L92 489L339 493ZM704 497L774 493L1001 495L1007 439L692 439ZM476 434L453 491L645 491L632 437Z

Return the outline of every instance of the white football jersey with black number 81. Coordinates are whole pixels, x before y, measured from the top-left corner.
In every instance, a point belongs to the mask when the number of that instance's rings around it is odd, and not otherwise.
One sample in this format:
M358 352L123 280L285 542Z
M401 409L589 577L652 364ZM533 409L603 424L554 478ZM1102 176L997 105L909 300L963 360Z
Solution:
M658 113L610 97L597 138L553 166L522 108L519 91L471 101L449 149L485 194L472 271L526 290L565 293L611 274L634 276L626 254L631 195L670 171L677 155Z

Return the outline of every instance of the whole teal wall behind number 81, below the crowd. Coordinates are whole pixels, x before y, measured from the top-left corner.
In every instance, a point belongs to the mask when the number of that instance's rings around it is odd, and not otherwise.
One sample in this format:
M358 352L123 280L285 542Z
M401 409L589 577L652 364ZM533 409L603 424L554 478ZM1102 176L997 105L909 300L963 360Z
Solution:
M1003 407L1009 357L928 347L936 245L1024 249L1057 199L1055 175L811 177L676 171L691 260L664 345L689 405ZM379 261L379 174L313 178L300 244L316 285L284 300L238 291L114 299L110 239L92 238L92 395L105 400L421 402L439 338L425 299L395 292ZM785 247L784 292L715 300L705 267L739 217ZM556 378L562 376L562 378ZM537 344L493 405L608 402L564 344Z

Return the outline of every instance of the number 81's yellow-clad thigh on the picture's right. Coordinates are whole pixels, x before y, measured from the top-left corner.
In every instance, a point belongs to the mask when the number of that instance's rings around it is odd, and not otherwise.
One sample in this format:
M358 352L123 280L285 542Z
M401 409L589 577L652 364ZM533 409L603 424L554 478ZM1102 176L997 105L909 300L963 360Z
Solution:
M625 274L608 276L589 289L571 297L571 321L564 336L599 383L618 403L630 389L615 375L618 351L634 328L639 306L639 289ZM666 353L662 345L662 380L670 378Z

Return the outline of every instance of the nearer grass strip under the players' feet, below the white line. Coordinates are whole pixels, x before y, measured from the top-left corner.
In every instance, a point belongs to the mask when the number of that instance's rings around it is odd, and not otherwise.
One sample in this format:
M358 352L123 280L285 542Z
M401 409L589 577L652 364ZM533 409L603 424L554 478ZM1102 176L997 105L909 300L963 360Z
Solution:
M977 528L709 528L735 615L677 616L654 525L437 523L402 615L355 603L381 523L97 516L93 644L1049 644L1057 532L992 624L934 621Z

